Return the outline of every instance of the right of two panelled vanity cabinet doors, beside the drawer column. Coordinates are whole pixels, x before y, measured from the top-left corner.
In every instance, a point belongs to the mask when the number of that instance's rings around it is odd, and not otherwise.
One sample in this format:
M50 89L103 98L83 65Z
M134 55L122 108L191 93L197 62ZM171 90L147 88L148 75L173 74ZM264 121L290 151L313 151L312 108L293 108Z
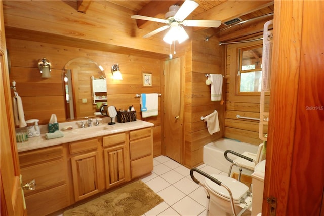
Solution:
M104 149L106 189L129 181L129 155L125 144Z

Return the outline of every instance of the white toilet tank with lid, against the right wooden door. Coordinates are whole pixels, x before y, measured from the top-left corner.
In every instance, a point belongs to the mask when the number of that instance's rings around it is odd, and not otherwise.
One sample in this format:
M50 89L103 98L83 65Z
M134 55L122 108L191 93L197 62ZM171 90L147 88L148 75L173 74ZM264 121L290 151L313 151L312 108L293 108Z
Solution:
M252 216L256 216L262 211L263 187L264 187L265 160L258 163L252 173Z

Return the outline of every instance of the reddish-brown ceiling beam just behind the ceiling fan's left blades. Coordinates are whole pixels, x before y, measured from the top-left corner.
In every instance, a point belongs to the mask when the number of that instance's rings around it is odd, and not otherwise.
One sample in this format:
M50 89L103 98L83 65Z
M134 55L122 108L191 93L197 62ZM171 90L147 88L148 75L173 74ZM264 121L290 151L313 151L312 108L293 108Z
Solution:
M171 5L182 5L184 1L179 0L162 0L162 1L151 1L147 5L145 5L141 10L137 12L137 15L155 17L158 14L165 14L169 11L169 7ZM164 17L162 18L164 19ZM145 26L149 24L150 21L137 19L137 27L143 29Z

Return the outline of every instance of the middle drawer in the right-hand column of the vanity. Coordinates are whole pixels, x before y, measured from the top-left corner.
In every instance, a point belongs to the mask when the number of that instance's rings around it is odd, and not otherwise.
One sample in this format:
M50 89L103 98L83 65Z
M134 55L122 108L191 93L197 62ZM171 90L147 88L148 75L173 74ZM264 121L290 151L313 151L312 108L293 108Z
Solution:
M131 160L152 154L152 137L130 141Z

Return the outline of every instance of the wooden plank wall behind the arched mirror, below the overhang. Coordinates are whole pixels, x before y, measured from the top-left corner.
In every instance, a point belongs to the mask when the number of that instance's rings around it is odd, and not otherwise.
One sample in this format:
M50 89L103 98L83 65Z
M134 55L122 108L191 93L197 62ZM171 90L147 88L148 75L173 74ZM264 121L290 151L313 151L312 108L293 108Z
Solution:
M12 38L7 38L7 48L11 56L10 81L16 81L26 120L39 119L40 124L47 124L51 114L55 113L58 122L65 121L62 72L64 65L74 58L87 57L103 66L107 77L108 105L117 109L127 109L133 105L135 110L140 111L140 100L135 98L136 94L161 92L162 69L161 60L158 59ZM48 79L41 78L37 66L38 60L43 57L49 59L53 66L51 78ZM123 74L121 81L111 79L111 66L115 63L119 63ZM142 86L144 71L152 73L152 87ZM159 112L160 110L159 107ZM139 112L137 119L142 119ZM145 121L155 125L154 154L159 155L161 117L149 117Z

